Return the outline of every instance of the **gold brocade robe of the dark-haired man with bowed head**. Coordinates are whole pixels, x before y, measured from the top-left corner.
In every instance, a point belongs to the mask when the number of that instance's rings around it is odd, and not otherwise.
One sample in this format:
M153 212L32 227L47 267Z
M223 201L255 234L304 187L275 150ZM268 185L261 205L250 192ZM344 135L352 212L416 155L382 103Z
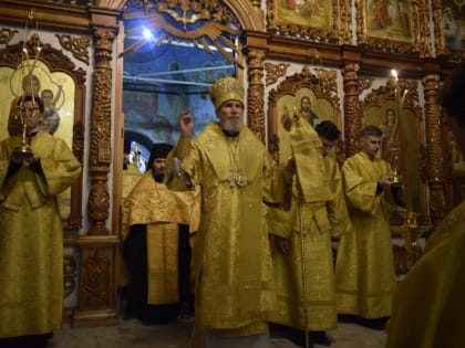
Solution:
M345 233L351 223L338 165L324 158L323 168L331 183L331 200L302 203L294 184L291 209L269 208L267 213L269 232L290 243L289 253L275 250L272 255L277 306L271 321L299 329L328 330L337 326L331 236Z

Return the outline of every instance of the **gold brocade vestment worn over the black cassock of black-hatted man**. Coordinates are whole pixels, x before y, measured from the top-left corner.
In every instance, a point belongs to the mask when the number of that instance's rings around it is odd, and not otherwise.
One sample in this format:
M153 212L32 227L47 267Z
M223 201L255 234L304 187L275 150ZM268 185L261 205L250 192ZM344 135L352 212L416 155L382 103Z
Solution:
M148 304L178 302L178 224L195 232L199 192L175 192L155 181L152 171L137 182L123 205L123 239L134 224L147 225Z

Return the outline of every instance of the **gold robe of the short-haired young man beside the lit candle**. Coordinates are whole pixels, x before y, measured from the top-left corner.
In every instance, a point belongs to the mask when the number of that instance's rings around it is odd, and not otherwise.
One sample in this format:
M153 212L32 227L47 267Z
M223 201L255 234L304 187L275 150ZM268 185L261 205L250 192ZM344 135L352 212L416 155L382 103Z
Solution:
M389 164L363 152L342 167L353 233L341 236L335 284L338 313L379 318L391 314L396 276L385 192L376 182L391 175Z

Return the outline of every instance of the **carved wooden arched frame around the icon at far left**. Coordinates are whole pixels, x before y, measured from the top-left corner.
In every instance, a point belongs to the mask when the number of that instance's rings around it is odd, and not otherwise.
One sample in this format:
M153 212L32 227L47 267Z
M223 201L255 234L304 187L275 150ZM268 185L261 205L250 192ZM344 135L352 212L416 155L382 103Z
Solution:
M8 29L1 29L8 31ZM14 35L13 31L10 31ZM13 36L10 38L10 40ZM9 41L10 41L9 40ZM75 84L74 95L74 124L72 135L72 149L76 158L83 164L84 157L84 106L85 106L85 71L76 68L75 64L62 51L52 48L48 43L42 43L37 33L23 43L22 41L0 50L0 66L17 70L23 62L23 48L28 51L31 60L35 59L35 48L38 43L42 46L39 61L42 62L50 72L62 72L71 76ZM68 219L63 220L64 230L80 230L82 228L82 173L71 187L71 209Z

